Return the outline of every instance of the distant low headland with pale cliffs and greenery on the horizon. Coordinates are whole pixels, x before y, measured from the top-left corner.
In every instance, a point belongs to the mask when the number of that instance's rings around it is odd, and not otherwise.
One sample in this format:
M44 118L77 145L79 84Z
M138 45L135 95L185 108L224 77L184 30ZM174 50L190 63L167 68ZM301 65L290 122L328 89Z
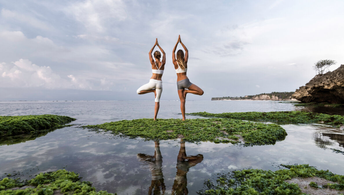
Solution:
M294 92L271 92L257 95L245 95L244 97L222 97L212 98L212 100L291 100Z

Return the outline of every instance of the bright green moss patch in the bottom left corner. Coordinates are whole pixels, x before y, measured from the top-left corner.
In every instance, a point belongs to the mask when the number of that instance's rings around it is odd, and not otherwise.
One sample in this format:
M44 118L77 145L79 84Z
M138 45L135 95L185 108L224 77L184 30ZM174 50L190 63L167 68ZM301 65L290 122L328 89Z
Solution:
M0 181L0 195L113 195L106 191L97 192L91 182L80 181L79 174L58 170L55 172L40 173L29 181L4 178ZM23 187L24 186L24 187ZM22 189L18 189L23 187ZM13 189L17 188L17 189Z

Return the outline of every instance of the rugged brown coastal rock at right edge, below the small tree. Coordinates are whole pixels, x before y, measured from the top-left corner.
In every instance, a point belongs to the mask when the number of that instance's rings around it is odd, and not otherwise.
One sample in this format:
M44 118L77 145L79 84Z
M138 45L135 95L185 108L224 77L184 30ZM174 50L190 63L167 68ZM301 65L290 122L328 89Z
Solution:
M332 72L314 76L292 95L301 102L344 103L344 64Z

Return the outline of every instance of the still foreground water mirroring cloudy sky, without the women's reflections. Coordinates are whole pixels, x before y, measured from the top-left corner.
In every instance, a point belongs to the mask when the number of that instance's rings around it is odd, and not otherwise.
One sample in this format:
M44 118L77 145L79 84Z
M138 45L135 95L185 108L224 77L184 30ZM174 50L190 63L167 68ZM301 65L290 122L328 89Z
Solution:
M325 134L322 137L333 143L331 148L342 148L337 140L326 135L333 133L335 129L324 125L288 124L282 127L286 129L288 136L275 145L243 147L211 142L186 142L185 156L196 158L197 155L202 155L202 160L195 166L188 167L187 174L185 169L185 180L183 174L179 173L178 177L177 173L183 147L180 141L160 142L159 163L165 192L171 193L173 186L186 187L189 192L198 191L203 187L204 179L216 177L216 173L227 173L233 168L277 170L279 164L298 163L344 174L343 154L321 148L314 140L315 134ZM22 178L28 178L39 172L65 167L69 171L80 173L84 180L93 182L99 190L118 194L146 194L152 185L152 172L149 165L140 161L138 154L149 155L156 160L155 145L153 141L143 141L140 138L115 138L107 133L65 127L36 140L0 146L0 172L20 171Z

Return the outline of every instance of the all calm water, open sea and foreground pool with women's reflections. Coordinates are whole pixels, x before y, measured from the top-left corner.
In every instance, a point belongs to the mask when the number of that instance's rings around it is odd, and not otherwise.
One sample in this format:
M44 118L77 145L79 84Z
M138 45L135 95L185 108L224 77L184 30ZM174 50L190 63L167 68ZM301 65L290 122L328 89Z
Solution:
M162 101L158 118L181 118L179 101ZM37 101L0 102L0 115L57 114L76 118L72 124L152 118L153 101ZM277 101L187 101L186 112L248 112L308 110L344 114L340 109L314 109ZM197 118L197 116L187 116ZM310 164L344 175L344 132L327 125L280 124L288 133L275 145L243 147L232 144L144 141L118 138L65 127L34 140L0 145L0 178L23 178L65 168L80 173L97 190L119 195L196 194L208 178L242 168L277 170L280 164ZM0 142L1 144L1 142ZM192 160L182 162L181 156Z

